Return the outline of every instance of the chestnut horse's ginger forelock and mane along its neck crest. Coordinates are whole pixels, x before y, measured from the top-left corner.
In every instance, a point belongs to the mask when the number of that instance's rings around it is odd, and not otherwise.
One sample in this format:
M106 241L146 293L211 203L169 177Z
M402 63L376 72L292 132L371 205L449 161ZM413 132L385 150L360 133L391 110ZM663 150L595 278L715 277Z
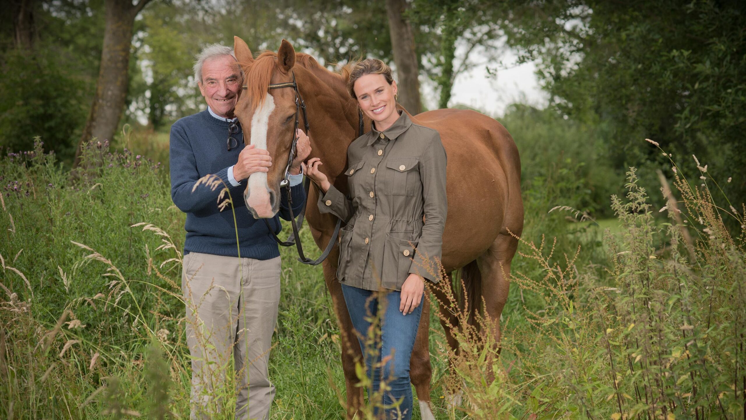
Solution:
M277 70L286 74L278 65L278 53L272 51L262 52L251 64L239 63L244 73L244 84L246 85L245 95L248 95L249 102L254 109L264 104L267 98L267 91L272 80L272 73ZM295 65L300 65L306 70L318 71L325 70L332 75L341 78L345 83L350 76L350 70L354 62L345 64L339 72L332 72L319 64L316 58L310 55L298 52L295 54ZM248 82L250 81L250 82Z

